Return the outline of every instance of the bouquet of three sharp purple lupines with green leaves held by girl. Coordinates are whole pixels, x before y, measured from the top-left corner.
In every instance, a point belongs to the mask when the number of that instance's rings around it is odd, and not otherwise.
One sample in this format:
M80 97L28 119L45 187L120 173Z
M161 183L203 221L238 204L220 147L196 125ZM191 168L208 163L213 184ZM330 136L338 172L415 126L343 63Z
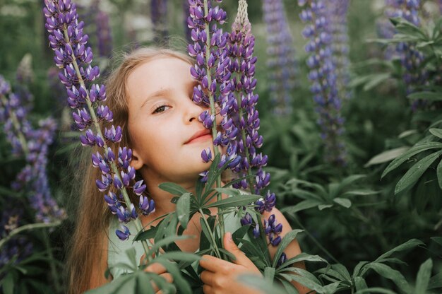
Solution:
M92 154L92 165L102 173L96 181L97 189L105 193L104 201L121 223L135 222L138 233L134 240L143 242L148 259L145 265L160 262L172 274L177 288L183 293L190 293L189 283L195 287L201 286L198 273L191 266L196 257L194 254L177 252L179 247L174 242L186 238L177 236L177 233L182 235L190 218L201 213L202 234L198 254L213 254L228 259L231 254L222 248L221 241L225 235L223 216L234 212L240 216L237 218L240 228L233 233L233 239L242 243L241 250L250 259L256 260L256 266L269 278L290 281L290 278L284 277L287 275L283 271L291 269L294 262L303 261L306 256L287 260L283 253L299 230L292 231L282 240L279 236L282 225L274 215L261 221L261 213L271 211L275 206L275 194L268 192L264 197L259 195L268 186L270 174L263 170L267 157L257 152L263 138L258 134L259 119L255 109L258 96L253 94L256 87L256 79L253 78L256 57L253 57L254 37L247 18L246 1L239 2L239 14L232 25L232 33L223 33L218 25L225 22L225 11L213 6L211 1L189 0L190 16L187 23L192 29L193 44L188 49L189 54L196 57L196 64L191 67L190 73L199 81L193 90L193 101L210 108L201 113L198 119L204 127L212 130L214 154L210 148L201 153L202 160L206 163L212 161L212 164L196 182L195 194L178 184L160 184L161 189L176 195L172 199L176 211L167 214L156 227L148 230L143 230L127 189L140 196L138 211L152 213L155 204L145 196L143 181L135 182L135 170L130 165L131 149L119 147L118 151L114 150L121 141L123 130L112 125L112 110L104 104L104 86L93 83L99 76L99 69L90 65L92 49L87 46L88 37L83 34L83 22L78 20L76 5L70 0L45 0L45 5L49 43L54 49L54 61L61 69L59 78L66 86L68 105L75 110L73 120L83 132L80 141L83 146L93 146L99 150ZM215 119L217 115L221 116L220 126ZM237 176L222 183L222 172L227 169ZM231 186L236 189L231 189ZM250 189L251 194L244 195L245 192L239 189ZM222 194L232 197L222 199ZM211 201L215 197L217 201ZM209 208L217 208L217 215L212 216ZM117 230L116 234L121 240L127 240L133 232L121 225L121 230ZM148 247L147 240L150 238L155 242ZM268 244L277 246L273 261ZM153 253L155 257L152 257ZM172 263L169 259L181 262ZM105 293L133 279L138 281L146 276L153 280L157 278L155 274L142 271L143 266L141 270L138 264L131 266L133 275L117 278L112 285L100 288L97 293ZM177 274L177 269L182 270L181 275L179 271ZM183 276L186 276L186 280ZM147 285L149 283L143 283L143 289L147 293L152 292L153 289ZM290 283L286 286L293 287Z

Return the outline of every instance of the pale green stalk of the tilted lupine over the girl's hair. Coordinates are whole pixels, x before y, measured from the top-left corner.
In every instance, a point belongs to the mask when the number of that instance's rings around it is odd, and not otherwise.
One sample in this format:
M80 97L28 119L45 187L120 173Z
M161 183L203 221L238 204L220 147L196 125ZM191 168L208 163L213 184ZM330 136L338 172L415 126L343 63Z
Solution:
M69 44L69 46L71 46L70 43L69 43L68 30L67 30L66 24L64 25L63 31L64 31L64 38L65 38L66 44ZM80 69L79 69L78 64L77 64L77 59L76 59L76 57L75 57L75 55L73 53L71 54L71 57L72 57L72 60L73 60L72 61L73 67L76 70L78 82L80 83L80 86L82 86L83 88L86 89L86 86L85 86L85 83L83 81L83 78L81 77ZM86 92L86 99L85 100L86 100L86 104L88 105L88 110L90 112L90 117L92 118L92 122L94 124L95 131L97 132L97 134L102 139L104 139L104 136L103 136L101 128L100 128L100 124L98 124L98 119L97 119L97 116L95 115L94 107L93 107L92 102L90 101L90 98L89 98L89 93L87 93L87 92ZM107 144L105 142L104 142L104 146L102 148L104 149L104 152L107 155ZM123 182L121 180L120 175L119 175L118 167L117 167L117 165L115 164L114 161L112 161L110 163L110 167L112 169L112 172L114 172L114 175L116 177L118 177L120 182ZM122 189L120 189L120 191L123 194L123 198L124 198L124 202L126 203L126 206L130 207L132 203L131 203L131 199L129 199L129 195L127 194L126 188L123 187ZM141 220L139 218L136 218L135 220L133 220L133 222L135 223L135 228L138 230L138 232L143 231L143 224L141 223ZM141 240L141 244L143 245L143 249L144 249L146 258L148 259L148 261L150 261L152 259L152 257L149 254L148 241Z

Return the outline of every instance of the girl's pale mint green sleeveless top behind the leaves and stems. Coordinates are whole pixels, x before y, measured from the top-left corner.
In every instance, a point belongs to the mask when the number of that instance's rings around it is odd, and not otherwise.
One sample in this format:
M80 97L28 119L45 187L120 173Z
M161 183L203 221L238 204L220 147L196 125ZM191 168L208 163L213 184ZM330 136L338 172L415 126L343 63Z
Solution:
M226 232L234 233L234 231L238 230L241 227L239 217L235 216L234 212L225 214L224 221L225 221ZM119 238L115 234L115 230L120 229L119 225L120 223L116 217L112 218L111 223L109 225L109 246L107 253L107 266L109 267L112 277L114 277L114 279L118 278L122 274L127 274L131 272L131 270L129 269L122 269L119 267L115 267L115 265L119 263L131 264L131 262L129 261L129 257L127 256L127 254L124 253L127 249L130 249L131 247L135 249L136 261L139 261L144 254L144 249L143 245L141 245L141 242L133 242L133 237L135 237L136 234L130 235L129 240L126 241L119 240ZM129 230L132 233L136 232L136 228L133 221L125 225L126 227L129 228Z

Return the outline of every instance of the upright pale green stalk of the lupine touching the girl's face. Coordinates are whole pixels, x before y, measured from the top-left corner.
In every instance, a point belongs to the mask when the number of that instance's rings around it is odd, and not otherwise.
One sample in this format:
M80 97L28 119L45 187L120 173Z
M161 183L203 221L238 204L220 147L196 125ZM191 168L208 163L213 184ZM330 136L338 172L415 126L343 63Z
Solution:
M208 11L207 0L204 0L204 14L205 14L205 16L207 16L208 13L209 13L209 11ZM210 84L212 83L212 77L210 76L211 70L210 70L210 67L208 66L209 57L210 57L210 33L209 33L210 28L209 28L209 24L207 22L205 23L205 32L207 33L207 41L205 42L205 65L206 65L206 73L207 73L207 78L208 78L208 85L210 87ZM209 91L209 101L210 101L210 113L216 116L215 100L213 98L212 93L210 93L210 91ZM213 139L215 139L217 137L216 127L217 127L217 124L216 124L216 117L215 117L215 122L213 123L213 126L212 126ZM213 153L215 153L215 157L218 154L220 154L218 147L215 145L213 145ZM217 177L216 187L217 188L221 187L221 177ZM217 198L217 201L220 201L222 199L222 194L217 192L216 198ZM220 221L220 234L222 236L224 236L225 228L224 228L224 216L222 215L222 208L218 208L218 219Z

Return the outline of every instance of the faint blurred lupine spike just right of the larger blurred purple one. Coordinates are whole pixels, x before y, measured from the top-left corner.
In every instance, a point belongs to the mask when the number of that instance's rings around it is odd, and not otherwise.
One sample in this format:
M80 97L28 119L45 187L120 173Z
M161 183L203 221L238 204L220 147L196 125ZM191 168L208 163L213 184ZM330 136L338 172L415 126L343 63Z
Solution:
M350 59L348 46L347 11L350 0L330 0L326 2L329 11L330 33L332 35L332 59L335 66L338 95L349 99L348 75Z

